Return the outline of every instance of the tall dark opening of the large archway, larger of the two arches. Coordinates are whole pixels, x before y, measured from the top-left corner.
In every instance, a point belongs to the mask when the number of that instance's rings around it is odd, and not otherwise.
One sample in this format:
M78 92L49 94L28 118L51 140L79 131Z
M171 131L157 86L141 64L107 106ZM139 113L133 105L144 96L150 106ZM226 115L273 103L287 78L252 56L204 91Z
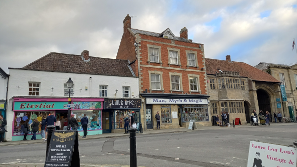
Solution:
M270 121L272 120L271 117L271 108L270 108L270 96L264 89L257 90L257 97L258 97L258 105L259 110L262 110L264 113L268 111L270 113Z

